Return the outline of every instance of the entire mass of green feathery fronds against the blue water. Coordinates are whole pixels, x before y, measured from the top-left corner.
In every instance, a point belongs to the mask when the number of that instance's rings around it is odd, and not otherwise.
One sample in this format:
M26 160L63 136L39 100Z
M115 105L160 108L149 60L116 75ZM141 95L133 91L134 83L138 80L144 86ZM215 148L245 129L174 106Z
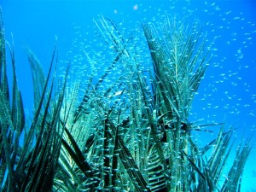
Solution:
M235 146L233 127L219 126L206 146L193 131L211 125L189 122L189 110L207 66L202 27L166 16L143 23L152 66L139 61L133 33L125 37L113 20L96 21L99 36L115 55L96 77L56 77L55 48L49 72L26 44L32 69L33 115L26 115L15 73L14 44L4 36L0 15L0 180L2 191L239 191L251 138ZM11 63L7 63L6 51ZM11 89L7 65L12 67ZM115 77L108 79L108 76ZM80 99L80 95L83 98ZM24 143L20 143L21 138ZM227 160L236 150L232 166ZM226 172L223 179L221 175Z

